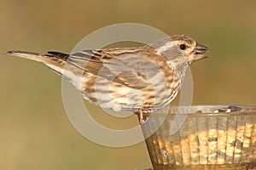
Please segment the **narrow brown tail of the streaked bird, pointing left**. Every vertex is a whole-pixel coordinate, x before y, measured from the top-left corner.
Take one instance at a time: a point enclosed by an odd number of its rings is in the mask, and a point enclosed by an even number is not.
[[[52,70],[63,74],[65,65],[67,63],[67,59],[69,54],[62,54],[59,52],[48,52],[47,54],[37,54],[32,52],[13,50],[7,52],[9,55],[18,56],[24,59],[31,59],[34,61],[38,61],[40,63],[44,63],[44,65],[49,66]]]

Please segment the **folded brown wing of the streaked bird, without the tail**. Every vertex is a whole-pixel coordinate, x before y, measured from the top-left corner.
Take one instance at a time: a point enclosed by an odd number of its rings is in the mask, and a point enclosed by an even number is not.
[[[160,68],[140,48],[84,50],[71,54],[67,63],[129,88],[146,88]],[[54,52],[49,52],[53,54]]]

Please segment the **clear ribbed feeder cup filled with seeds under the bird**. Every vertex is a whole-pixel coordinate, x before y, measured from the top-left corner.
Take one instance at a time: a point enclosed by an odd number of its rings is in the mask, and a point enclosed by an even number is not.
[[[256,105],[171,107],[142,128],[157,129],[146,139],[154,170],[256,169]]]

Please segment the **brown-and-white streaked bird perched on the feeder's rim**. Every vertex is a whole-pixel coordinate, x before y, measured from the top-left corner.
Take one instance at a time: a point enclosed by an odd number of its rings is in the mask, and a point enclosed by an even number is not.
[[[47,65],[66,77],[85,100],[113,111],[132,111],[143,124],[151,112],[175,99],[189,65],[207,58],[208,51],[191,37],[172,35],[134,48],[7,54]]]

